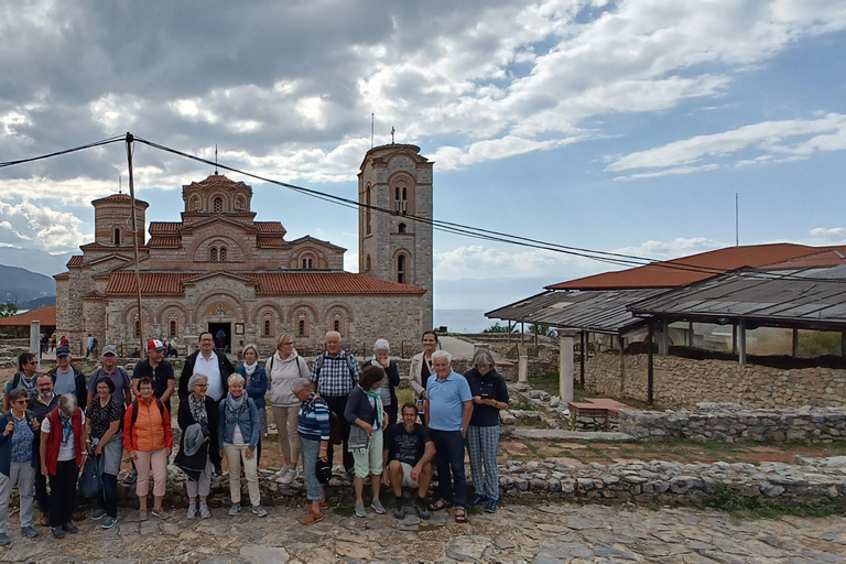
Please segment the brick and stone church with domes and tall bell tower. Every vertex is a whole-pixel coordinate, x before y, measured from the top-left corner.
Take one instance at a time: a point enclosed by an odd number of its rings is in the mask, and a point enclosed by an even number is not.
[[[95,241],[56,274],[56,330],[72,344],[138,346],[133,237],[139,243],[145,338],[196,347],[223,330],[230,350],[294,335],[319,348],[328,330],[372,346],[417,341],[432,328],[432,165],[420,148],[371,149],[358,174],[359,273],[344,271],[343,249],[310,236],[285,239],[280,221],[257,221],[252,188],[213,174],[183,186],[180,221],[153,221],[126,194],[94,200]],[[370,207],[368,207],[370,206]],[[390,209],[387,214],[372,207]]]

